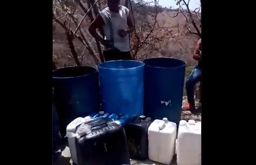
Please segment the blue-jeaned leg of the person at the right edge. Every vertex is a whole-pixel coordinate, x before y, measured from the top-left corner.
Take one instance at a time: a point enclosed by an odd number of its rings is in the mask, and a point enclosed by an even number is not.
[[[201,80],[201,68],[196,65],[190,74],[188,80],[186,81],[186,95],[189,105],[189,109],[195,109],[195,100],[194,100],[194,86]]]

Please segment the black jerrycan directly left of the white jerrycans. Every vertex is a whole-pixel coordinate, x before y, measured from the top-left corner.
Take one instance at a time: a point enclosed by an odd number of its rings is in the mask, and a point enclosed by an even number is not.
[[[136,115],[130,118],[129,123],[124,127],[131,159],[145,160],[149,158],[148,128],[151,123],[151,118]]]

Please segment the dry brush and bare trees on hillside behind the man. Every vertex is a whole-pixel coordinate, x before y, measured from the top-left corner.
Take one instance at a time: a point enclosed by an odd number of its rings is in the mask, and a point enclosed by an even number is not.
[[[123,5],[127,2],[129,0],[121,0]],[[197,27],[201,20],[198,19],[198,12],[190,12],[186,5],[183,9],[184,2],[179,1],[180,9],[175,10],[162,8],[156,0],[150,4],[143,0],[128,4],[135,25],[135,31],[130,34],[131,52],[135,59],[172,56],[190,61],[187,56],[197,39],[193,22]],[[97,65],[103,61],[103,46],[88,33],[88,26],[105,6],[104,0],[53,2],[53,61],[58,66]],[[174,14],[170,15],[170,12]],[[185,21],[179,22],[178,17]],[[196,21],[193,21],[195,18]],[[161,19],[178,21],[169,27],[168,22],[160,22]]]

